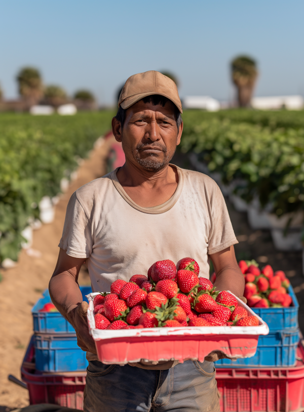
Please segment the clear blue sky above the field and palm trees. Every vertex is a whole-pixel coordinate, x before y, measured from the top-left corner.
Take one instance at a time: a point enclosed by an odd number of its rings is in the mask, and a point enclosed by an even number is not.
[[[17,96],[24,65],[69,94],[115,102],[132,74],[169,70],[180,96],[231,99],[229,63],[258,62],[255,95],[304,95],[303,0],[0,0],[0,84]]]

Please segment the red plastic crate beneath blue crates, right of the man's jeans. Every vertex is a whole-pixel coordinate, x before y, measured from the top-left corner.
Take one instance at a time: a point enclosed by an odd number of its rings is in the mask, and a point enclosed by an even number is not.
[[[216,370],[221,412],[299,412],[304,410],[304,349],[287,368]]]

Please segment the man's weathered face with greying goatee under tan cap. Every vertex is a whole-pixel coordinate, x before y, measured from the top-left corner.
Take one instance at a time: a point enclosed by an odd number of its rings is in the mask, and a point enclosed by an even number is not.
[[[180,143],[174,104],[154,106],[142,100],[129,107],[121,141],[126,158],[143,169],[157,172],[167,166]],[[118,139],[120,140],[120,139]]]

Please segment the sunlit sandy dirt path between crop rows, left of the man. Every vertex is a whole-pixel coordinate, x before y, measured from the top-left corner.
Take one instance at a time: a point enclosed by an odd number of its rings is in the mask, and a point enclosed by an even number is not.
[[[0,412],[27,406],[27,390],[8,381],[9,374],[20,379],[20,366],[32,335],[31,308],[49,283],[58,256],[67,202],[80,186],[107,173],[106,156],[111,140],[98,140],[89,159],[85,160],[66,193],[56,205],[55,220],[33,233],[32,249],[41,252],[41,258],[31,258],[22,251],[16,267],[4,270],[0,283]],[[89,278],[82,270],[80,283]]]

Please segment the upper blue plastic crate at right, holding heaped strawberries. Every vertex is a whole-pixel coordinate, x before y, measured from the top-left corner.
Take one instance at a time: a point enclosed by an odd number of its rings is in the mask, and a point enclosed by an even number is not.
[[[288,293],[292,298],[292,306],[289,308],[251,308],[268,324],[270,331],[286,331],[298,327],[299,304],[291,285],[288,287]]]

